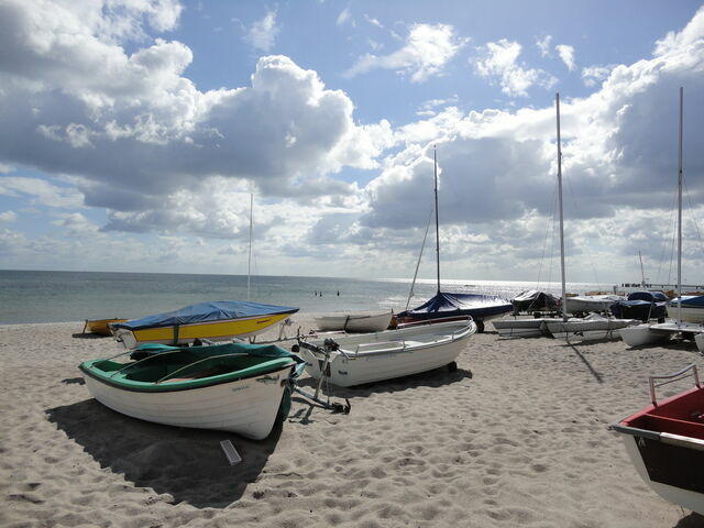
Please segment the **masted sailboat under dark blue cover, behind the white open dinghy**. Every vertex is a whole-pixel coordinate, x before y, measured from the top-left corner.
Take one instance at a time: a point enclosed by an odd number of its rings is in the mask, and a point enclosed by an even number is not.
[[[438,292],[422,305],[396,316],[400,324],[439,322],[471,317],[477,332],[484,331],[484,321],[508,314],[513,310],[510,301],[498,295],[448,293],[440,289],[440,220],[438,218],[438,156],[433,148],[435,195],[436,195],[436,253],[438,272]]]

